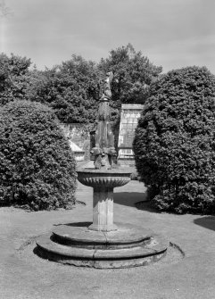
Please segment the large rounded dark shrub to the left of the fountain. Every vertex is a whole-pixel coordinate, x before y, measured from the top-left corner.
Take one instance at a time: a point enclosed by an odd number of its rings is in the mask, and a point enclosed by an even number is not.
[[[54,113],[24,100],[0,109],[0,204],[32,210],[75,202],[75,160]]]

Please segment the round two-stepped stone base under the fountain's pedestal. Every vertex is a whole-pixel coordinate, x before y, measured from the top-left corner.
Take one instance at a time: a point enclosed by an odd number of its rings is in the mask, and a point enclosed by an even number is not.
[[[94,231],[70,223],[37,238],[37,253],[54,262],[99,269],[144,266],[165,256],[170,242],[151,229],[117,224],[118,230]]]

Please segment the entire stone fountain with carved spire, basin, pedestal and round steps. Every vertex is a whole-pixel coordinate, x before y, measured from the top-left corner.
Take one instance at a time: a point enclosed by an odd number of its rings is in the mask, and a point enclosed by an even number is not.
[[[94,188],[93,223],[60,225],[37,238],[37,253],[49,260],[94,268],[128,268],[160,260],[169,241],[149,228],[115,223],[113,188],[128,184],[131,170],[116,162],[109,102],[112,71],[107,72],[100,97],[91,154],[94,167],[81,168],[79,182]]]

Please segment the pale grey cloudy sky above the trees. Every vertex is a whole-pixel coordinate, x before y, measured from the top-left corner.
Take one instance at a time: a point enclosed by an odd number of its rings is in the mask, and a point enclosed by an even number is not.
[[[44,70],[80,54],[99,62],[132,44],[163,72],[191,65],[215,74],[214,0],[0,0],[0,52]]]

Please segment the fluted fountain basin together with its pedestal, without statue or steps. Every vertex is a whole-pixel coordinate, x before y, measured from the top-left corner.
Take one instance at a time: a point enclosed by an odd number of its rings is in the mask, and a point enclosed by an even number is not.
[[[98,231],[116,230],[113,223],[113,188],[126,185],[131,170],[78,170],[79,182],[94,188],[93,224],[89,229]]]

